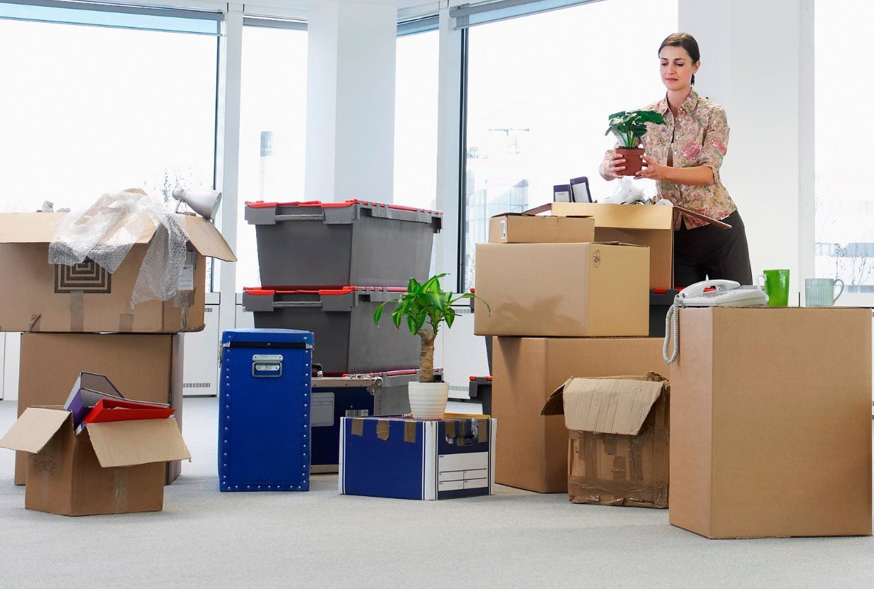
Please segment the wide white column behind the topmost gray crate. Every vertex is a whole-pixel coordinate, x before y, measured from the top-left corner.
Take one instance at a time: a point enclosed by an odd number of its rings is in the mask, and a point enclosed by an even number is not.
[[[393,3],[329,0],[313,6],[308,25],[308,199],[392,201],[397,26]]]

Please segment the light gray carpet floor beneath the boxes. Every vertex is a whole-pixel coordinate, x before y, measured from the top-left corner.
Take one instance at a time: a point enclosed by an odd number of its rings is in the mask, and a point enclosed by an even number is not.
[[[149,514],[24,509],[0,450],[2,587],[863,587],[874,539],[713,541],[668,512],[574,505],[565,495],[413,502],[309,493],[219,493],[217,401],[185,401],[193,461]],[[0,433],[15,404],[0,401]]]

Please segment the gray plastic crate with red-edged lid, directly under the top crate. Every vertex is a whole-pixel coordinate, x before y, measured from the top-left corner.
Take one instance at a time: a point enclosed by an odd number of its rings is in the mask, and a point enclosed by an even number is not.
[[[316,336],[313,364],[325,376],[354,372],[406,370],[419,365],[420,339],[406,323],[395,329],[385,306],[381,327],[373,313],[404,288],[346,287],[336,290],[244,288],[243,307],[254,314],[256,328],[302,329]]]

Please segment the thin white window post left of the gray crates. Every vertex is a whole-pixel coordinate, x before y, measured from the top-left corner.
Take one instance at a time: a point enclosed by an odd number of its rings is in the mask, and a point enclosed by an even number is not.
[[[228,4],[221,39],[218,80],[218,152],[216,185],[222,191],[221,232],[231,249],[237,249],[239,198],[239,97],[243,64],[243,5]],[[218,334],[233,329],[236,315],[237,274],[232,262],[216,260],[221,301]]]

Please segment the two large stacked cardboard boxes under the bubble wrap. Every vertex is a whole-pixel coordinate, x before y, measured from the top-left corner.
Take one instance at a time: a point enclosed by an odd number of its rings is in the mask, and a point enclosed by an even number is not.
[[[109,274],[91,260],[75,266],[48,264],[48,246],[62,218],[64,213],[0,215],[0,330],[23,332],[19,416],[34,405],[63,405],[80,371],[89,371],[106,375],[126,398],[175,407],[181,427],[181,334],[204,328],[207,257],[233,261],[230,247],[204,218],[179,216],[189,235],[189,253],[178,294],[131,308],[154,227],[143,232],[121,267]],[[58,431],[72,435],[63,427]],[[26,482],[29,461],[28,453],[17,453],[16,484]],[[172,482],[180,471],[179,461],[168,462],[164,481]],[[135,510],[128,507],[133,505],[115,505]]]

